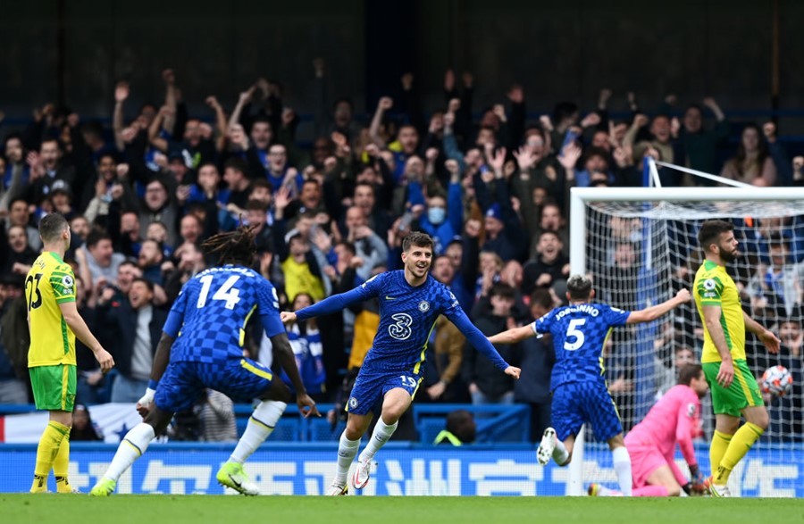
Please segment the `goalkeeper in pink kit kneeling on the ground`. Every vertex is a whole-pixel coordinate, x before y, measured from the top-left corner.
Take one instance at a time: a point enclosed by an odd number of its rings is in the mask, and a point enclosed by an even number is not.
[[[703,475],[695,458],[692,439],[700,434],[700,399],[708,392],[700,364],[679,370],[678,384],[671,387],[648,415],[625,436],[631,455],[633,496],[679,496],[682,491],[703,492]],[[675,445],[690,466],[691,481],[675,464]],[[614,489],[592,484],[590,495],[621,495]]]

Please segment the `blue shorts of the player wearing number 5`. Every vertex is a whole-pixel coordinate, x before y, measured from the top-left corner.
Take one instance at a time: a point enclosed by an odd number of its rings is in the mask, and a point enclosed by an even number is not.
[[[620,414],[602,382],[566,382],[553,392],[553,428],[558,440],[578,435],[589,423],[595,438],[607,441],[623,432]]]

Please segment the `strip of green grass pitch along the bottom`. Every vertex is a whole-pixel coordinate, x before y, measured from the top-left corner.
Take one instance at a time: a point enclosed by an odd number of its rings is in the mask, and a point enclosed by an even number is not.
[[[804,500],[583,497],[368,497],[0,494],[4,524],[691,524],[804,522]]]

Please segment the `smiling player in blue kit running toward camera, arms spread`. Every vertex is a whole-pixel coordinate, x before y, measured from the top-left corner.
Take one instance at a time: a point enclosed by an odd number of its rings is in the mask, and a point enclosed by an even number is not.
[[[424,352],[427,340],[439,315],[446,316],[474,347],[484,353],[498,370],[519,378],[519,368],[509,366],[475,328],[458,304],[455,295],[429,274],[432,261],[432,238],[412,232],[402,242],[404,270],[381,273],[351,291],[332,295],[297,312],[282,312],[288,323],[338,312],[371,297],[380,299],[380,326],[371,350],[357,374],[355,387],[347,403],[347,427],[340,436],[338,469],[327,495],[348,492],[347,475],[355,459],[360,439],[380,412],[371,439],[360,453],[352,486],[365,487],[374,454],[397,428],[399,417],[410,404],[422,383]]]

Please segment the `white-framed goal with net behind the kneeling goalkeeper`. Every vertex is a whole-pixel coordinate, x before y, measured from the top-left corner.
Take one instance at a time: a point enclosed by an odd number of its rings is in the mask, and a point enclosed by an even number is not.
[[[730,220],[741,256],[727,267],[751,318],[782,338],[778,355],[747,333],[746,354],[761,385],[763,371],[783,365],[793,386],[783,397],[766,395],[770,426],[730,480],[735,495],[795,496],[804,490],[804,188],[574,188],[573,273],[593,279],[596,299],[639,310],[692,291],[703,257],[698,230],[704,220]],[[677,367],[700,362],[703,330],[695,304],[684,304],[649,324],[615,329],[604,350],[609,389],[627,431],[673,387]],[[699,464],[709,472],[714,430],[711,397],[702,399]],[[570,472],[571,495],[599,482],[616,487],[608,446],[586,428]],[[677,455],[683,464],[681,454]],[[688,471],[686,466],[683,471]]]

